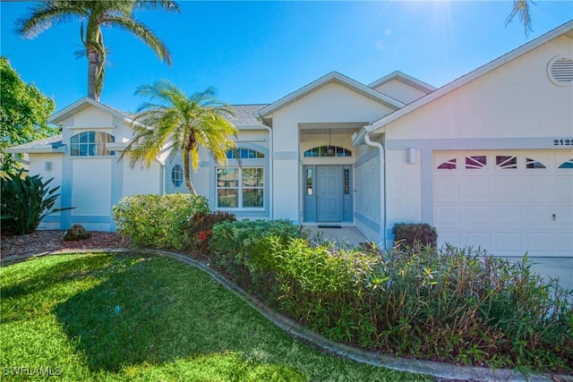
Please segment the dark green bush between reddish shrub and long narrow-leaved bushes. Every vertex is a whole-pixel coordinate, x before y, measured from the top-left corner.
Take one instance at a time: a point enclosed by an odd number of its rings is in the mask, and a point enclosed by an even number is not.
[[[270,269],[269,238],[288,242],[301,237],[299,225],[286,219],[242,220],[213,226],[210,240],[211,264],[235,283],[251,292],[261,280],[267,283]]]

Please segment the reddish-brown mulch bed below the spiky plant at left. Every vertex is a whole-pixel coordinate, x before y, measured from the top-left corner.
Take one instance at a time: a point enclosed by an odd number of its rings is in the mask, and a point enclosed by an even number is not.
[[[30,234],[9,236],[3,234],[0,241],[0,258],[34,255],[56,250],[121,249],[128,248],[129,241],[113,232],[90,231],[88,239],[76,242],[64,240],[65,231],[38,230]]]

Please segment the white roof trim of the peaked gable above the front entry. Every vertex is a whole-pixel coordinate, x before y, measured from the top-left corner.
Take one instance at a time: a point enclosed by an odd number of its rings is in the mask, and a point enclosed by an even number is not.
[[[328,85],[329,83],[338,83],[348,89],[354,90],[357,93],[362,94],[364,97],[371,98],[374,101],[380,102],[381,104],[388,106],[391,109],[397,110],[400,107],[404,107],[405,105],[398,101],[397,99],[391,98],[382,94],[379,91],[376,91],[372,88],[363,85],[362,83],[352,80],[349,77],[346,77],[339,72],[329,72],[328,74],[322,76],[320,79],[316,81],[312,81],[308,85],[304,86],[301,89],[296,90],[295,92],[289,94],[284,98],[280,98],[277,102],[270,104],[269,106],[263,107],[259,112],[259,115],[262,117],[269,116],[270,114],[276,112],[278,109],[290,105],[293,102],[297,101],[300,98],[304,98],[304,96],[312,93],[317,89],[321,89],[323,86]]]

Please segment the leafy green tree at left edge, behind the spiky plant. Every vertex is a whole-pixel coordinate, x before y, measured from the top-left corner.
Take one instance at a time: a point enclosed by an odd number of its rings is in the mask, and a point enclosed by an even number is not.
[[[56,105],[34,85],[21,81],[6,57],[0,57],[0,78],[0,160],[2,171],[15,173],[19,164],[4,149],[57,134],[47,125]]]

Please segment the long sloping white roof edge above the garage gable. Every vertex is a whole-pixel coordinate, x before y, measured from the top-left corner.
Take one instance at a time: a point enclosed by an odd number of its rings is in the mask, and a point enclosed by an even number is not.
[[[368,132],[374,132],[380,129],[381,127],[385,126],[386,124],[396,121],[398,118],[407,115],[413,112],[414,110],[432,102],[433,100],[440,98],[448,94],[449,92],[466,85],[466,83],[470,81],[474,81],[475,79],[496,70],[501,65],[506,64],[509,61],[515,60],[517,57],[521,55],[526,55],[526,53],[531,52],[535,48],[541,47],[548,41],[551,41],[552,39],[558,38],[562,35],[566,35],[569,38],[573,38],[573,20],[568,21],[565,24],[561,25],[560,27],[557,27],[556,29],[545,33],[543,36],[539,38],[535,38],[534,40],[528,42],[527,44],[521,47],[517,47],[508,54],[502,55],[499,58],[493,60],[491,63],[485,64],[482,67],[477,68],[475,71],[467,73],[466,75],[458,78],[458,80],[449,82],[449,84],[442,86],[440,89],[433,91],[432,93],[428,94],[427,96],[424,96],[423,98],[415,100],[411,104],[399,109],[398,111],[390,113],[389,115],[382,117],[381,119],[371,123],[370,125],[364,126],[363,130],[358,132],[353,138],[353,144],[358,145],[362,143],[364,134]]]

